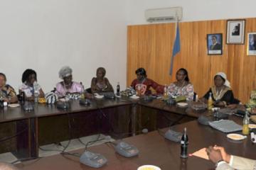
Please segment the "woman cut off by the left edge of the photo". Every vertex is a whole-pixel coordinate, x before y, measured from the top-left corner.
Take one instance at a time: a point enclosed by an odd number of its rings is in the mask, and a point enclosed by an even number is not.
[[[14,88],[6,84],[6,75],[4,73],[0,73],[0,93],[0,97],[8,103],[16,103],[18,101]]]

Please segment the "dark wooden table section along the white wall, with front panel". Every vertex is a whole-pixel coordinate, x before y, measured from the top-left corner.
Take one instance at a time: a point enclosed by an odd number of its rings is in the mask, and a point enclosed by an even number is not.
[[[130,130],[129,122],[120,118],[126,118],[130,114],[134,101],[119,98],[95,99],[90,106],[82,106],[79,101],[68,102],[70,103],[68,109],[59,109],[56,104],[41,103],[34,104],[33,111],[24,111],[22,106],[1,109],[2,152],[7,148],[16,150],[14,152],[16,157],[38,157],[39,145],[70,139],[71,121],[79,124],[76,129],[74,127],[72,129],[78,132],[73,134],[73,138],[109,131],[113,128],[111,126],[117,130],[124,128],[124,132]]]

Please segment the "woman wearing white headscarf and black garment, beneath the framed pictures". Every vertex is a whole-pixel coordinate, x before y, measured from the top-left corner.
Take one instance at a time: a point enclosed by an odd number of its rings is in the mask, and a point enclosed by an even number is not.
[[[238,99],[234,98],[233,91],[230,89],[230,82],[223,72],[218,72],[214,77],[214,86],[210,87],[209,91],[201,98],[201,101],[206,102],[212,94],[215,106],[228,106],[233,107],[240,103]]]

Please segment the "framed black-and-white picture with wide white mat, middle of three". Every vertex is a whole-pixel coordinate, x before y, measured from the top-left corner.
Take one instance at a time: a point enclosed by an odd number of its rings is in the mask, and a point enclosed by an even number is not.
[[[227,44],[245,43],[245,20],[227,21]]]

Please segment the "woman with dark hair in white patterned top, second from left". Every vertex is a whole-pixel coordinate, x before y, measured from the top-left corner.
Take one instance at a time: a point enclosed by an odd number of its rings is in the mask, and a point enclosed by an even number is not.
[[[34,100],[34,94],[38,93],[38,97],[43,98],[44,93],[41,86],[37,83],[36,72],[33,69],[26,69],[22,74],[22,85],[18,91],[23,91],[28,101]]]

